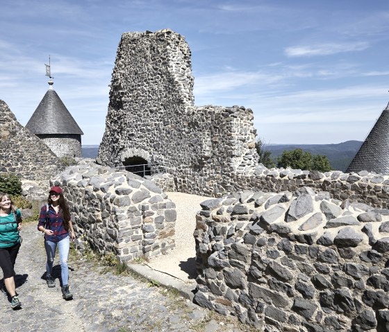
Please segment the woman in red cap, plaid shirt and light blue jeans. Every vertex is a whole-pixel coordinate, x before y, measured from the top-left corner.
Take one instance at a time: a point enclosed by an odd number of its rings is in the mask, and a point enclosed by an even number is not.
[[[55,287],[56,282],[52,277],[53,262],[56,248],[60,255],[60,268],[62,279],[62,294],[66,300],[72,299],[69,291],[69,270],[67,259],[69,256],[70,238],[74,240],[74,230],[70,219],[69,208],[59,186],[53,186],[47,198],[48,204],[40,209],[38,230],[44,233],[44,247],[47,254],[46,282],[49,288]]]

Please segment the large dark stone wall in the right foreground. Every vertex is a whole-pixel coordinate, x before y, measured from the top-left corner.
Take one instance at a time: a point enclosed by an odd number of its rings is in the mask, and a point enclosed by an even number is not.
[[[197,213],[197,304],[260,331],[389,331],[389,210],[244,191]]]

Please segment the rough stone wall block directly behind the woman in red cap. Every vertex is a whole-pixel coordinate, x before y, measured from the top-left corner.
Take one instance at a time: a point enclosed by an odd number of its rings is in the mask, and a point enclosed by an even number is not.
[[[51,179],[69,202],[78,237],[121,261],[174,247],[176,209],[153,182],[83,160]]]

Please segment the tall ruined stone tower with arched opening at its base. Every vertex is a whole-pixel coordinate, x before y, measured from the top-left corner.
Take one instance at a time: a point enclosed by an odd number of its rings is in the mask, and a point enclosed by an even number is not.
[[[253,112],[194,105],[190,49],[172,30],[124,33],[110,85],[101,164],[153,174],[176,189],[220,195],[256,166]]]

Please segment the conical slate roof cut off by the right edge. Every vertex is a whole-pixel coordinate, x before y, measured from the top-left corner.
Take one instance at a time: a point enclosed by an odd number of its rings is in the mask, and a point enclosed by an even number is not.
[[[389,103],[347,168],[347,173],[369,171],[389,175]]]

